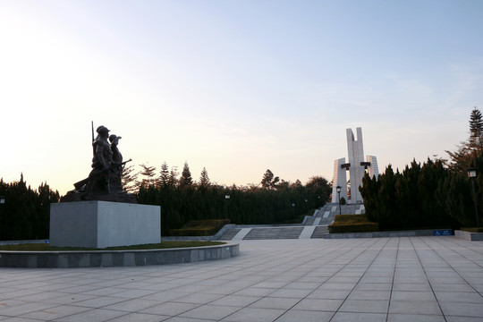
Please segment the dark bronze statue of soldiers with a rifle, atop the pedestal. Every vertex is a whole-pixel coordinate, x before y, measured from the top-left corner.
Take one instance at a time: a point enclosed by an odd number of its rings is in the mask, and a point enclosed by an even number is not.
[[[119,148],[120,136],[109,135],[109,129],[101,125],[97,127],[97,137],[92,135],[92,170],[89,176],[74,183],[75,190],[67,192],[61,202],[81,200],[105,200],[115,202],[136,203],[134,195],[123,190],[122,174],[124,165],[131,159],[123,161]]]

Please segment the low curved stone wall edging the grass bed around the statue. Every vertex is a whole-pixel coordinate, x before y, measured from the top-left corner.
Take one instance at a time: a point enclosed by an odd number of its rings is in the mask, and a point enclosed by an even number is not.
[[[0,251],[0,267],[138,267],[233,258],[239,244],[166,250]]]

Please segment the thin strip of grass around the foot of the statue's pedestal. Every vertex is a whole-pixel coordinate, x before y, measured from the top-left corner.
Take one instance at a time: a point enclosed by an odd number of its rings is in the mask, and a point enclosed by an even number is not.
[[[63,250],[162,250],[184,247],[203,247],[223,245],[226,242],[161,242],[157,244],[144,244],[132,246],[107,247],[105,249],[89,249],[79,247],[51,247],[48,243],[32,243],[18,245],[0,245],[0,250],[19,250],[19,251],[63,251]]]

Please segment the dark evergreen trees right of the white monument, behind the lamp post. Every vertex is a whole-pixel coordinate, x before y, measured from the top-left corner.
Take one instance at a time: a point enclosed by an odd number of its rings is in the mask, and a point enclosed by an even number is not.
[[[449,160],[428,159],[420,165],[415,160],[402,173],[391,165],[378,178],[362,181],[360,193],[369,220],[383,230],[479,226],[483,217],[483,117],[478,108],[470,114],[470,138],[460,143],[457,150],[446,151]],[[467,170],[476,168],[476,179]],[[476,191],[475,208],[472,191]]]

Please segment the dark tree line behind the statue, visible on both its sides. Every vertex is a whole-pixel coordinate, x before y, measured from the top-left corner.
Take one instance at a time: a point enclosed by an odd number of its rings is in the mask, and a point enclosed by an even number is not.
[[[236,224],[276,224],[301,222],[309,209],[323,206],[331,185],[313,176],[305,185],[299,180],[286,182],[267,170],[258,185],[226,186],[212,183],[203,168],[199,181],[191,177],[188,163],[180,175],[176,167],[163,163],[159,174],[155,166],[141,165],[139,174],[127,171],[124,184],[135,193],[140,204],[161,206],[162,233],[182,227],[193,219],[230,219]],[[37,190],[21,179],[0,179],[0,240],[48,239],[50,204],[59,202],[58,191],[42,183]]]

